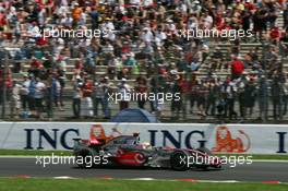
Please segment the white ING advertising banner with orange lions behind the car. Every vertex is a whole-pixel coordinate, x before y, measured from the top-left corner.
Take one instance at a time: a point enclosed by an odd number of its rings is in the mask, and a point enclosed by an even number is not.
[[[288,151],[288,126],[93,122],[0,122],[0,148],[64,151],[73,148],[75,138],[94,140],[101,135],[110,140],[133,133],[153,146],[207,147],[213,153],[233,154]]]

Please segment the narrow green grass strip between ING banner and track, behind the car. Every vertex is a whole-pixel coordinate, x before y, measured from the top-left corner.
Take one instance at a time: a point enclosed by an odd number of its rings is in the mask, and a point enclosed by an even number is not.
[[[43,150],[0,150],[0,156],[16,155],[16,156],[44,156],[44,155],[72,155],[71,151],[43,151]],[[279,159],[288,160],[286,155],[248,155],[248,154],[217,154],[217,156],[252,156],[252,159]]]

